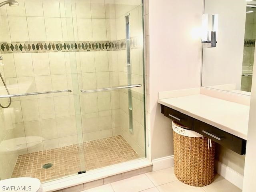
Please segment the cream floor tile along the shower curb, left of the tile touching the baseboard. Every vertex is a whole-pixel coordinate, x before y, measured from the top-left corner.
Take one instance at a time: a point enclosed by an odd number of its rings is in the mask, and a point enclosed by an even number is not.
[[[128,179],[111,183],[115,192],[139,192],[154,187],[154,184],[145,175],[138,175]]]

